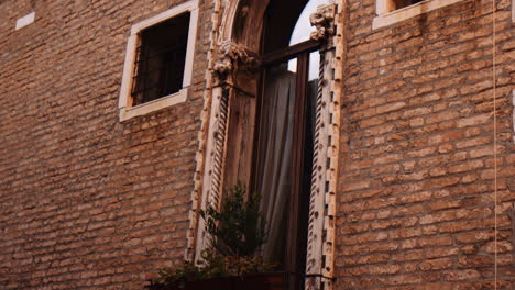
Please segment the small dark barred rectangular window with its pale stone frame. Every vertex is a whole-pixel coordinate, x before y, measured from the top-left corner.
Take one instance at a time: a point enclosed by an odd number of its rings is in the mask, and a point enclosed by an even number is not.
[[[120,89],[120,121],[186,101],[191,86],[198,0],[132,25]]]

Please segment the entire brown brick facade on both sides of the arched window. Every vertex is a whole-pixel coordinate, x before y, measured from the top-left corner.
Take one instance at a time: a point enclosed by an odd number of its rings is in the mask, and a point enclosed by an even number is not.
[[[182,261],[215,1],[187,101],[118,119],[131,25],[180,2],[0,1],[0,289],[142,289]],[[496,159],[492,1],[377,30],[375,0],[343,2],[336,289],[493,289],[495,245],[511,289],[511,1],[496,1]]]

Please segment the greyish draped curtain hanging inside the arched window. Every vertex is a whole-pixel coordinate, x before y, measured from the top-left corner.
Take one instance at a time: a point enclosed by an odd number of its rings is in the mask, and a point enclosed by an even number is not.
[[[269,261],[282,263],[292,187],[295,72],[285,65],[271,70],[274,71],[266,77],[261,110],[256,186],[267,225],[263,256]]]

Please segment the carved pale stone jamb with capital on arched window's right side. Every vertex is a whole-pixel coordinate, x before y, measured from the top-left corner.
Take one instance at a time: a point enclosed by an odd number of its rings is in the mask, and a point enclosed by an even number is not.
[[[333,288],[337,168],[340,134],[342,0],[320,7],[310,18],[311,38],[327,40],[320,52],[315,152],[309,204],[306,290]],[[339,13],[336,13],[339,10]],[[337,38],[333,45],[333,40]]]

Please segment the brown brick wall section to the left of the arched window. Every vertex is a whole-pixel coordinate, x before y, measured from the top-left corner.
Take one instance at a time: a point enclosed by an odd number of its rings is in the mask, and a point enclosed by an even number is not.
[[[179,2],[0,1],[0,289],[142,289],[180,263],[210,7],[187,102],[118,121],[131,25]]]

